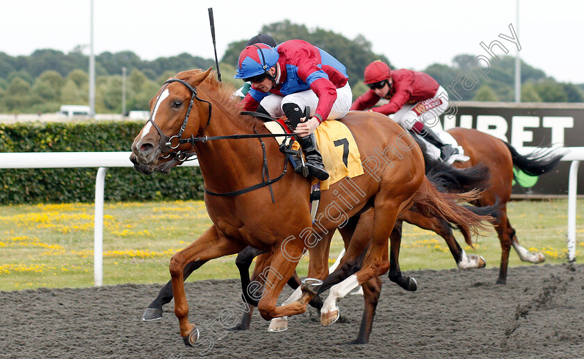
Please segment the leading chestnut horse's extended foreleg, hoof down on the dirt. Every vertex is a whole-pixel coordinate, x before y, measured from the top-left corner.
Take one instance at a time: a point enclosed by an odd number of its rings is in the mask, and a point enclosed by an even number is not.
[[[172,294],[175,297],[175,315],[179,319],[180,335],[184,343],[193,345],[199,338],[199,330],[188,322],[188,304],[184,291],[184,267],[194,260],[211,260],[241,251],[245,244],[232,240],[218,233],[215,226],[207,229],[188,247],[176,253],[170,259],[170,277]]]

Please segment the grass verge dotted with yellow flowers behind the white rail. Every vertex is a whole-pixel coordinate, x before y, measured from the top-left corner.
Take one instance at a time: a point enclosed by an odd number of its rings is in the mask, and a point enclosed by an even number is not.
[[[36,287],[86,287],[93,285],[93,205],[87,203],[0,206],[0,290]],[[578,201],[578,213],[584,201]],[[510,221],[519,242],[540,251],[546,262],[566,261],[567,201],[513,201]],[[578,216],[580,218],[580,216]],[[202,201],[106,203],[104,208],[104,285],[165,283],[168,262],[211,224]],[[581,236],[584,226],[578,225]],[[451,269],[455,262],[441,237],[405,225],[400,265],[403,270]],[[487,267],[498,267],[501,247],[494,231],[479,237],[476,252]],[[330,262],[342,248],[334,236]],[[577,244],[578,257],[583,245]],[[195,271],[188,281],[237,278],[235,256],[218,258]],[[302,258],[298,273],[305,276],[308,260]],[[510,267],[530,265],[512,251]]]

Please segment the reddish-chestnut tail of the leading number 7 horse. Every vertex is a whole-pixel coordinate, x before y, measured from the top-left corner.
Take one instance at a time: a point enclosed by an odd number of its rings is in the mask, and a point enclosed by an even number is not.
[[[466,234],[464,240],[472,247],[471,237],[478,235],[481,230],[487,230],[486,222],[494,221],[491,212],[493,206],[470,210],[468,206],[460,206],[457,203],[476,201],[481,194],[479,190],[463,193],[440,192],[428,178],[424,177],[418,192],[414,195],[413,202],[416,210],[422,215],[444,218],[460,228],[462,233]]]

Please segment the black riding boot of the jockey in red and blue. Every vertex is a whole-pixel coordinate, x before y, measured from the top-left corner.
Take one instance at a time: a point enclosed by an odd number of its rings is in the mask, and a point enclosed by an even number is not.
[[[282,110],[286,114],[286,117],[290,120],[292,128],[295,129],[298,124],[300,124],[300,119],[305,117],[304,112],[300,110],[300,106],[295,103],[284,103]],[[316,149],[316,137],[314,135],[309,135],[306,137],[296,136],[302,151],[305,153],[306,167],[308,168],[308,173],[311,176],[318,178],[321,181],[329,178],[329,174],[325,170],[325,165],[323,164],[323,156]],[[302,167],[297,167],[296,172],[302,172]]]

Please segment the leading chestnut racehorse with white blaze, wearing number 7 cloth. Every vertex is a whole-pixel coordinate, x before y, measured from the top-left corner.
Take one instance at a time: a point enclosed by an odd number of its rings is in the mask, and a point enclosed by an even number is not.
[[[233,88],[220,85],[210,72],[180,72],[164,83],[150,101],[151,117],[134,140],[130,158],[145,174],[168,171],[165,162],[191,150],[199,159],[213,225],[170,260],[175,315],[185,344],[192,345],[199,334],[188,321],[183,271],[189,262],[238,253],[248,245],[270,251],[270,285],[261,293],[258,310],[272,319],[305,312],[328,274],[329,247],[321,238],[366,207],[375,208],[371,247],[344,288],[387,272],[389,235],[409,206],[435,212],[471,232],[487,219],[455,203],[476,200],[478,192],[443,194],[432,186],[424,175],[421,150],[400,126],[380,114],[350,112],[341,122],[355,137],[366,173],[323,191],[313,226],[310,180],[293,173],[277,142],[263,142],[262,136],[270,136],[263,122],[241,115]],[[277,307],[277,297],[305,251],[309,278],[302,296]]]

